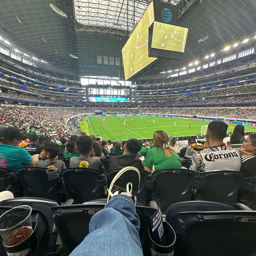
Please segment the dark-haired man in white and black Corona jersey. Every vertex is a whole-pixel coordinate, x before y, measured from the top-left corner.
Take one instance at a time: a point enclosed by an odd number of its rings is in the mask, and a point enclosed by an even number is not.
[[[210,122],[206,132],[206,141],[210,147],[193,154],[190,170],[198,174],[206,171],[239,171],[242,158],[237,149],[227,147],[223,139],[227,135],[228,125],[221,121]]]

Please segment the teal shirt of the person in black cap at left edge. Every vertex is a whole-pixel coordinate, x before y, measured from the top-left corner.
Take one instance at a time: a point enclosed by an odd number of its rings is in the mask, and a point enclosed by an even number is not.
[[[23,147],[0,144],[0,167],[17,172],[17,168],[27,166],[32,161],[30,153]]]

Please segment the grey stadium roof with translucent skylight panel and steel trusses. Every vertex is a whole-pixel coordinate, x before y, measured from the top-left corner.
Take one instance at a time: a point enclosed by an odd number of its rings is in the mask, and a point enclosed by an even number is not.
[[[183,60],[168,61],[163,67],[187,63],[203,50],[255,32],[255,0],[171,2],[179,5],[178,25],[188,27],[189,33]],[[50,3],[67,18],[56,14]],[[97,55],[121,58],[130,31],[149,3],[149,0],[2,0],[0,34],[49,64],[72,68],[80,75],[118,76],[119,67],[97,64]],[[198,42],[207,35],[207,40]],[[159,69],[151,71],[158,73]]]

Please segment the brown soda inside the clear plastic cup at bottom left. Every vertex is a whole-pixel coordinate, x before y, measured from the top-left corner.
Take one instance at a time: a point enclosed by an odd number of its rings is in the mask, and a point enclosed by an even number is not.
[[[18,245],[22,241],[26,240],[32,233],[32,228],[30,226],[20,227],[13,232],[11,232],[5,239],[5,244],[8,246]]]

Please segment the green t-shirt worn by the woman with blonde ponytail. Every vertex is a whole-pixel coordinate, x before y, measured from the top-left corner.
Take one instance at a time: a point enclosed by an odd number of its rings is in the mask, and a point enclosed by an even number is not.
[[[170,168],[181,168],[181,159],[176,152],[174,153],[175,155],[172,155],[171,158],[168,158],[161,149],[153,147],[152,149],[147,151],[147,155],[145,157],[143,165],[148,168],[152,168],[154,165],[155,171]]]

